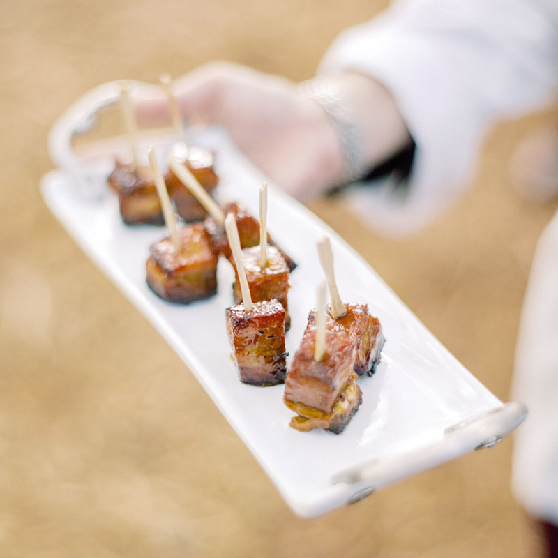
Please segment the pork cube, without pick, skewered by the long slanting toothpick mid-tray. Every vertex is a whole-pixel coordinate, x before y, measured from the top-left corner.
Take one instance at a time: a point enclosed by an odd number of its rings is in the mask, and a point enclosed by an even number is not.
[[[232,213],[236,220],[236,228],[239,231],[239,239],[241,248],[252,248],[252,246],[257,246],[259,244],[259,221],[253,217],[246,209],[236,202],[232,202],[225,206],[225,215]],[[211,234],[211,239],[213,240],[213,245],[216,252],[223,254],[227,259],[232,260],[231,249],[229,248],[229,243],[227,241],[227,234],[225,234],[225,227],[219,225],[213,217],[208,217],[205,220],[206,229]],[[269,234],[267,235],[267,242],[269,246],[276,246]],[[289,257],[285,252],[280,250],[282,257],[285,259],[289,271],[293,271],[296,268],[296,263]]]

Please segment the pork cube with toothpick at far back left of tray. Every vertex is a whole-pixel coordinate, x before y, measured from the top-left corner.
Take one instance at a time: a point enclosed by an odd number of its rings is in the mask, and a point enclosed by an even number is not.
[[[120,84],[120,108],[126,125],[126,136],[132,152],[132,161],[124,163],[116,159],[114,170],[107,182],[116,192],[122,220],[126,225],[148,223],[163,225],[163,211],[153,172],[149,167],[140,165],[137,157],[137,124],[130,102],[130,84]]]

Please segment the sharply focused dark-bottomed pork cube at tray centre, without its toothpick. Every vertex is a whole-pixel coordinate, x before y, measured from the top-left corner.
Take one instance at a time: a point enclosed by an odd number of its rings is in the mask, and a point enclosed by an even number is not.
[[[252,312],[243,303],[227,308],[227,334],[241,382],[275,386],[285,382],[285,310],[276,301],[259,301]]]

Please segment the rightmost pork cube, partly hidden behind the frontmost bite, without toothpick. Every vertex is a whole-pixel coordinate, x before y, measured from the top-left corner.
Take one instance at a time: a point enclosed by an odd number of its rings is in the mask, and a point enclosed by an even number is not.
[[[340,318],[331,317],[331,306],[326,312],[326,329],[343,332],[349,335],[356,347],[354,371],[358,375],[365,372],[372,375],[380,360],[380,352],[384,345],[384,333],[379,319],[370,315],[367,304],[345,304],[347,313]],[[316,326],[316,316],[312,311],[308,315],[306,329]]]

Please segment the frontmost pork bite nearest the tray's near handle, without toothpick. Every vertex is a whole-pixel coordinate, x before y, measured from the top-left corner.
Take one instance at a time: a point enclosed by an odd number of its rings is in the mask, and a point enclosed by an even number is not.
[[[285,379],[285,405],[297,416],[292,428],[308,432],[323,428],[340,434],[362,403],[354,379],[356,347],[348,335],[326,331],[326,353],[314,359],[315,329],[307,329]]]

